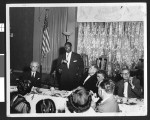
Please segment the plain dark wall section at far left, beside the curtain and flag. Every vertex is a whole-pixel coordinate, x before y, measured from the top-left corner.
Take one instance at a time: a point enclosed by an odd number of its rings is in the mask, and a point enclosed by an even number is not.
[[[22,70],[33,59],[34,8],[10,8],[10,66]]]

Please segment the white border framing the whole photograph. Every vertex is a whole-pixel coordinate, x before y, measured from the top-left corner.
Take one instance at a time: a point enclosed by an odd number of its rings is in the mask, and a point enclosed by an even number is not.
[[[126,5],[142,5],[144,6],[145,13],[147,12],[147,4],[146,3],[57,3],[57,4],[6,4],[6,75],[7,75],[7,86],[6,86],[6,92],[7,92],[7,98],[6,98],[6,104],[7,104],[7,110],[6,114],[8,117],[88,117],[88,116],[124,116],[120,113],[100,113],[100,114],[67,114],[67,113],[51,113],[51,114],[10,114],[10,86],[8,83],[10,83],[10,14],[9,14],[9,8],[10,7],[80,7],[80,6],[126,6]],[[147,14],[147,13],[146,13]],[[146,112],[143,114],[143,116],[147,115],[147,16],[144,18],[144,105]],[[127,116],[141,116],[137,114],[129,114]]]

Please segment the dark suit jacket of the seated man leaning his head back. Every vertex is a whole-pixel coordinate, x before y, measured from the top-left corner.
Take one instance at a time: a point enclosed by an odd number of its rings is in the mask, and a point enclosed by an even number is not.
[[[97,77],[96,74],[92,75],[85,83],[84,80],[87,78],[88,74],[85,73],[82,78],[82,86],[87,90],[92,90],[94,93],[97,93],[98,88],[96,87]],[[84,83],[84,85],[83,85]]]

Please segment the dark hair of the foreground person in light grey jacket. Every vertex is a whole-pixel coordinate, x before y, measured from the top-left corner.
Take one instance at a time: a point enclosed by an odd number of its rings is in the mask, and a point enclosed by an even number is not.
[[[113,93],[115,89],[115,84],[111,79],[104,79],[99,85],[102,89],[104,89],[107,93]]]

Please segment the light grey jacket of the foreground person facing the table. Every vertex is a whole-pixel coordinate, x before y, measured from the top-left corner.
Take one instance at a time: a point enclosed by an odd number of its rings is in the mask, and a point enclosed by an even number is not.
[[[108,98],[103,103],[99,103],[99,105],[96,107],[96,112],[100,113],[106,113],[106,112],[119,112],[119,106],[114,98],[114,96]]]

